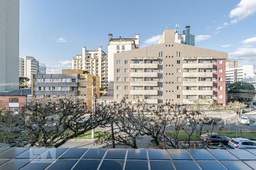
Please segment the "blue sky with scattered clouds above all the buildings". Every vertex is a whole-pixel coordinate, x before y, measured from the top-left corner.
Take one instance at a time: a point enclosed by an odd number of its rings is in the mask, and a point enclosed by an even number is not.
[[[106,51],[113,37],[140,34],[156,44],[164,29],[186,25],[196,46],[227,52],[256,72],[256,0],[20,0],[20,57],[45,63],[47,73],[72,68],[82,46]]]

